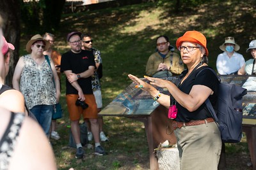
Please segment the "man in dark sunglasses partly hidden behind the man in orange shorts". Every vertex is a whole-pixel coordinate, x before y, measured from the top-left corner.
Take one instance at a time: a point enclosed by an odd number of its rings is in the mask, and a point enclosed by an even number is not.
[[[100,78],[102,76],[102,58],[100,56],[100,51],[97,50],[96,48],[93,48],[92,46],[93,40],[90,34],[82,34],[81,39],[82,39],[82,49],[93,52],[95,64],[97,67],[97,69],[94,71],[94,74],[92,76],[92,90],[97,103],[97,111],[99,113],[102,108],[102,95],[101,95],[101,85],[100,85]],[[103,122],[102,116],[99,116],[98,122],[100,127],[100,141],[108,141],[108,138],[103,132],[104,122]],[[88,141],[92,141],[92,132],[90,130],[91,130],[90,122],[88,122]]]

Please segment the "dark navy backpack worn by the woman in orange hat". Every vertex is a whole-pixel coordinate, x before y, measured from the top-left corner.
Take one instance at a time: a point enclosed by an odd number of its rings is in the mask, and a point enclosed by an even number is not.
[[[205,69],[211,68],[207,67]],[[204,69],[202,69],[202,71],[203,70]],[[211,69],[211,71],[217,76],[213,69]],[[220,81],[218,76],[217,78]],[[218,113],[215,113],[209,99],[205,101],[207,109],[218,124],[221,139],[224,143],[239,143],[241,141],[243,122],[242,99],[245,94],[247,94],[247,90],[243,87],[220,82],[218,93]]]

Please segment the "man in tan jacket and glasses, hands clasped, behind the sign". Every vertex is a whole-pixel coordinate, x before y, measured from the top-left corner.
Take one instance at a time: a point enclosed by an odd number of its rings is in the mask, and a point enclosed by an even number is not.
[[[170,46],[167,36],[156,38],[157,52],[150,55],[147,61],[146,74],[158,78],[179,75],[184,71],[184,65],[179,55]]]

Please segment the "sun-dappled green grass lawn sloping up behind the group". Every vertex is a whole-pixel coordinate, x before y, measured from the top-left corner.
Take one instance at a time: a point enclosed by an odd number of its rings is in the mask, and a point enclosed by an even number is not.
[[[250,53],[245,51],[248,43],[256,38],[253,6],[255,2],[252,0],[221,1],[205,3],[177,14],[170,4],[144,3],[65,13],[60,31],[54,32],[56,49],[61,53],[68,50],[65,41],[68,32],[77,30],[92,34],[93,46],[102,53],[102,97],[104,106],[107,106],[131,83],[127,74],[139,77],[145,74],[147,59],[155,51],[155,39],[160,34],[168,35],[171,45],[175,45],[176,39],[188,30],[203,32],[208,41],[209,65],[214,69],[216,57],[221,53],[219,46],[226,36],[234,36],[241,46],[239,53],[249,59]],[[65,87],[63,75],[62,83]],[[93,150],[86,149],[84,159],[75,159],[76,150],[67,146],[70,122],[64,88],[61,104],[64,109],[63,118],[58,120],[61,139],[52,140],[58,169],[149,169],[145,127],[140,122],[122,117],[104,117],[104,131],[110,140],[102,146],[109,155],[95,157]],[[246,166],[250,162],[246,138],[239,144],[227,144],[226,150],[228,169],[252,169]]]

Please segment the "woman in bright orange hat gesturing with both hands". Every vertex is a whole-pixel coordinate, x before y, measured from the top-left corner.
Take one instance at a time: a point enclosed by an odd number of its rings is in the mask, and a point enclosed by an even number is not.
[[[158,103],[177,107],[173,131],[177,138],[180,169],[218,169],[221,153],[220,131],[205,107],[209,99],[216,109],[219,81],[207,65],[209,54],[204,34],[187,31],[176,41],[182,61],[188,69],[180,75],[180,82],[145,76],[147,83],[132,74],[129,78],[146,90]],[[202,71],[204,69],[204,71]],[[166,88],[171,96],[161,94],[155,87]]]

